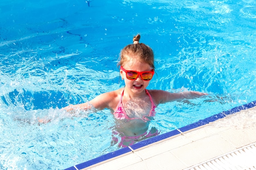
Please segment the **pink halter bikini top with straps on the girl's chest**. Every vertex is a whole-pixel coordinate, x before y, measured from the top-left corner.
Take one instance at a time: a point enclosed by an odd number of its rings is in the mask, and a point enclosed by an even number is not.
[[[151,102],[151,109],[150,109],[150,113],[148,114],[148,116],[152,117],[152,116],[155,116],[156,106],[155,106],[155,103],[153,102],[153,99],[152,99],[151,95],[148,93],[148,90],[145,89],[145,91],[146,91],[146,94],[148,95],[148,97],[150,99],[150,102]],[[122,104],[123,96],[124,96],[124,91],[122,92],[119,103],[117,105],[117,108],[115,109],[115,112],[113,113],[114,116],[117,119],[139,119],[139,118],[130,118],[126,115],[126,112],[124,110],[124,106]],[[146,117],[144,117],[144,119],[148,120]]]

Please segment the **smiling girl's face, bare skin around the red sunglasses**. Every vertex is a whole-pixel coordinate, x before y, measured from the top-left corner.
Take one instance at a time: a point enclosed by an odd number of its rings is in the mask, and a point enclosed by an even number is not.
[[[152,71],[152,68],[146,62],[140,62],[136,59],[130,60],[123,65],[125,70],[129,71]],[[123,70],[120,70],[121,77],[124,78],[125,85],[130,91],[135,94],[139,94],[144,92],[145,88],[148,86],[150,81],[145,81],[141,78],[141,75],[137,77],[137,79],[130,80],[127,79],[126,73]]]

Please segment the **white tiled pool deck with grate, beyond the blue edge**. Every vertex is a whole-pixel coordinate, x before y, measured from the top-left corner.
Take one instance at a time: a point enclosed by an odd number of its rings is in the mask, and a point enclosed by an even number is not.
[[[69,169],[256,170],[255,105],[197,128],[177,129],[174,134],[143,147],[123,148],[124,154],[86,168]]]

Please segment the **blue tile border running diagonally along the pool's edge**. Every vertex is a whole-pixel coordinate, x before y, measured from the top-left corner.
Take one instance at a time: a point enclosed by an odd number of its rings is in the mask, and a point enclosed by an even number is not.
[[[227,115],[232,115],[232,114],[237,113],[237,112],[239,112],[241,110],[249,109],[249,108],[252,108],[254,106],[256,106],[256,101],[250,102],[248,104],[244,104],[242,106],[237,106],[237,107],[232,108],[230,110],[223,111],[222,113],[218,113],[216,115],[207,117],[207,118],[205,118],[203,120],[199,120],[198,122],[195,122],[193,124],[184,126],[184,127],[180,128],[179,130],[181,132],[186,132],[188,130],[191,130],[191,129],[194,129],[194,128],[198,128],[200,126],[209,124],[210,122],[213,122],[213,121],[216,121],[216,120],[221,119],[223,117],[226,117]],[[161,141],[161,140],[166,139],[168,137],[172,137],[172,136],[178,135],[178,134],[180,134],[179,130],[173,130],[171,132],[167,132],[167,133],[164,133],[164,134],[152,137],[150,139],[146,139],[144,141],[140,141],[140,142],[138,142],[138,143],[136,143],[134,145],[131,145],[130,148],[132,148],[132,150],[136,150],[138,148],[142,148],[142,147],[147,146],[149,144],[153,144],[153,143],[155,143],[157,141]],[[79,169],[79,170],[81,170],[83,168],[87,168],[89,166],[92,166],[94,164],[100,163],[102,161],[106,161],[108,159],[111,159],[111,158],[123,155],[125,153],[132,152],[132,150],[130,148],[127,147],[127,148],[119,149],[119,150],[117,150],[115,152],[110,152],[110,153],[108,153],[106,155],[102,155],[102,156],[97,157],[95,159],[92,159],[90,161],[86,161],[84,163],[80,163],[80,164],[76,165],[75,167],[77,169]],[[75,167],[72,166],[72,167],[67,168],[65,170],[77,170]]]

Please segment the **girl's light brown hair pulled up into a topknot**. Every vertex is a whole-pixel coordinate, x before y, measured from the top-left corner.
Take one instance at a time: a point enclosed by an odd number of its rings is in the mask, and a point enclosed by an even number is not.
[[[136,59],[140,62],[146,62],[150,67],[155,69],[153,50],[149,46],[139,43],[139,39],[140,35],[138,34],[133,37],[133,44],[129,44],[121,50],[120,61],[117,66],[124,66],[126,62]]]

